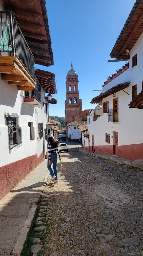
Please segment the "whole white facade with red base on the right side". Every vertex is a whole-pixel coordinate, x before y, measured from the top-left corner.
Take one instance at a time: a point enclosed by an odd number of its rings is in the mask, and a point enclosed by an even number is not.
[[[92,115],[88,116],[90,120],[88,122],[90,151],[111,155],[115,154],[116,156],[131,160],[143,159],[143,109],[139,109],[138,107],[129,108],[129,103],[132,102],[133,98],[133,86],[136,87],[137,96],[143,90],[142,46],[143,33],[129,52],[129,67],[123,67],[123,70],[118,75],[102,86],[103,93],[105,93],[114,86],[129,82],[129,86],[124,91],[121,88],[120,91],[102,99],[103,106],[105,102],[109,103],[108,113],[103,113],[103,107],[102,115],[96,121],[93,121],[94,111]],[[136,54],[137,63],[132,67],[133,58]],[[110,119],[110,111],[114,108],[113,100],[117,98],[119,102],[119,120],[110,122],[108,118]],[[142,99],[140,99],[140,103],[141,101]],[[88,146],[87,140],[85,141],[86,146]]]

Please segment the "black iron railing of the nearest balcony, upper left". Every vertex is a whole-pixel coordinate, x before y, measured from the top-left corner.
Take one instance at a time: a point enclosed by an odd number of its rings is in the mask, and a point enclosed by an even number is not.
[[[11,11],[0,11],[0,52],[18,57],[35,80],[34,56]]]

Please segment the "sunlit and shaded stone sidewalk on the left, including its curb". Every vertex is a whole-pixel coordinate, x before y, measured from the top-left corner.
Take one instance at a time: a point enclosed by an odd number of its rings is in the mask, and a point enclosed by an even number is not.
[[[0,255],[21,255],[48,177],[44,160],[0,200]]]

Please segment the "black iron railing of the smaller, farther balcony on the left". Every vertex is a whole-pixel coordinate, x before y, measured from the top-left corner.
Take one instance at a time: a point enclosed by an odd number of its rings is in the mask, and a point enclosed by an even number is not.
[[[25,98],[34,98],[38,102],[41,103],[41,85],[38,82],[37,78],[35,78],[36,86],[35,89],[31,92],[25,92]]]

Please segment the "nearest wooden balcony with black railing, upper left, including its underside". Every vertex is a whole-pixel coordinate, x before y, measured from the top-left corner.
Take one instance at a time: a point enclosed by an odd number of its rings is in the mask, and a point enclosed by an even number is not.
[[[34,57],[11,11],[0,12],[0,73],[18,90],[35,88]]]

